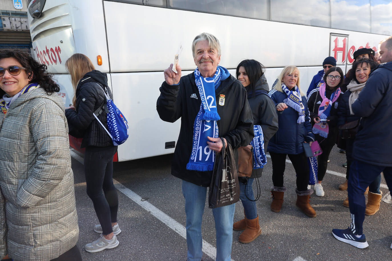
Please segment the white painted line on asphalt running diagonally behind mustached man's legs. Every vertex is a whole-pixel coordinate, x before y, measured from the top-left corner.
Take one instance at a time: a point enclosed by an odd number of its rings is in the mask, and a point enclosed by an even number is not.
[[[72,149],[71,149],[71,157],[73,157],[75,160],[77,160],[78,162],[83,164],[83,161],[84,161],[83,158],[80,157],[77,153],[75,153]],[[142,197],[141,196],[139,196],[138,194],[134,193],[133,191],[131,191],[131,189],[128,189],[127,187],[122,185],[117,180],[113,180],[113,183],[114,183],[114,186],[116,187],[116,189],[118,189],[118,191],[120,191],[125,196],[130,198],[136,204],[140,205],[140,207],[142,207],[143,209],[145,209],[148,212],[150,212],[152,214],[152,216],[154,216],[158,220],[162,221],[162,223],[164,223],[169,228],[174,230],[177,234],[179,234],[180,236],[182,236],[185,239],[187,238],[187,232],[186,232],[186,229],[185,229],[185,227],[183,225],[181,225],[176,220],[174,220],[171,217],[169,217],[164,212],[160,211],[160,209],[156,208],[154,205],[149,203],[147,200],[142,201]],[[202,251],[207,256],[211,257],[212,259],[216,258],[216,248],[213,247],[210,243],[208,243],[204,239],[203,239]],[[231,260],[234,261],[233,259],[231,259]]]

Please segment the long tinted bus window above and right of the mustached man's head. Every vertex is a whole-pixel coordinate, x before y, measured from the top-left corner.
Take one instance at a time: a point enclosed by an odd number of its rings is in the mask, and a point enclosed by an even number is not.
[[[169,0],[167,2],[169,7],[175,9],[268,19],[268,0]]]

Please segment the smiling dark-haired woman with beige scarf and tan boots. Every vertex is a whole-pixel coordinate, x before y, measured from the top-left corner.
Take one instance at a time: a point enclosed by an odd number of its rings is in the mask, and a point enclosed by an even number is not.
[[[344,93],[338,108],[338,126],[343,126],[348,122],[357,122],[359,126],[360,117],[354,115],[351,105],[358,98],[359,93],[365,87],[369,78],[370,70],[376,68],[378,63],[373,59],[358,59],[352,63],[351,71],[355,73],[347,85],[347,92]],[[358,130],[358,127],[357,127]],[[354,145],[356,130],[341,130],[341,137],[346,140],[346,187],[352,158],[352,147]],[[380,191],[381,174],[369,185],[368,203],[366,204],[365,214],[368,216],[376,214],[380,208],[382,192]],[[349,207],[348,197],[343,201],[345,207]]]

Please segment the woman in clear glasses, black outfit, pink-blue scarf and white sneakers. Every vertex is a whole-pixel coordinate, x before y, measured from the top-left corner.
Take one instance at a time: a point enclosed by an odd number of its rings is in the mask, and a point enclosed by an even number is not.
[[[324,196],[321,181],[327,171],[329,153],[338,137],[338,105],[343,95],[340,86],[343,83],[343,71],[339,67],[332,67],[324,75],[323,85],[312,90],[308,97],[310,121],[313,125],[315,138],[323,150],[317,158],[318,183],[314,185],[317,196]]]

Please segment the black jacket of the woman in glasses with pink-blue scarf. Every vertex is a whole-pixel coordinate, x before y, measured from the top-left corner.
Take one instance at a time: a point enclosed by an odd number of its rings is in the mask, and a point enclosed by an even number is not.
[[[326,88],[325,88],[325,96],[326,97],[330,98],[333,92],[334,91],[329,90],[328,87],[326,86]],[[336,141],[338,134],[339,134],[338,107],[339,107],[339,103],[341,101],[342,96],[343,96],[343,92],[341,92],[338,99],[333,104],[331,104],[331,111],[330,111],[329,116],[327,117],[327,120],[329,120],[328,121],[327,140],[331,141],[332,144]],[[307,103],[308,103],[308,108],[309,108],[310,122],[312,123],[312,126],[314,125],[313,119],[318,116],[318,110],[319,110],[319,107],[320,107],[320,104],[322,101],[323,101],[323,99],[321,98],[319,88],[312,90],[310,92],[310,94],[308,95]],[[321,142],[325,139],[324,137],[321,137],[319,134],[316,134],[315,137],[316,137],[316,140],[318,140],[318,142]],[[334,142],[332,142],[332,140]],[[328,142],[328,143],[330,143],[330,142]]]

